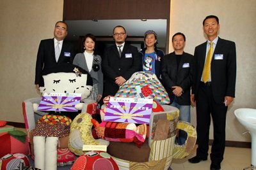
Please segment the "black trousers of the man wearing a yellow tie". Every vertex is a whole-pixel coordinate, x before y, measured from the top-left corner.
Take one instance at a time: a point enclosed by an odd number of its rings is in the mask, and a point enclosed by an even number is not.
[[[224,99],[223,99],[224,102]],[[212,96],[211,84],[200,83],[196,97],[196,131],[198,148],[196,155],[207,158],[209,150],[209,127],[213,122],[214,141],[211,149],[212,162],[221,163],[225,150],[225,127],[227,106],[216,103]]]

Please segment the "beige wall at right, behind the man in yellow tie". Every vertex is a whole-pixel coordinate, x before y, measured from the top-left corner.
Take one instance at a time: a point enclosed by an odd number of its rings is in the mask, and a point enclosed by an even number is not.
[[[241,135],[244,127],[237,122],[234,110],[256,108],[256,1],[255,0],[172,0],[170,42],[176,32],[186,35],[185,51],[193,54],[195,46],[206,41],[202,22],[207,15],[220,19],[220,37],[236,43],[237,80],[236,99],[228,108],[226,140],[250,141],[250,134]],[[170,43],[170,52],[173,51]],[[196,125],[195,108],[192,122]],[[210,138],[212,137],[212,126]]]

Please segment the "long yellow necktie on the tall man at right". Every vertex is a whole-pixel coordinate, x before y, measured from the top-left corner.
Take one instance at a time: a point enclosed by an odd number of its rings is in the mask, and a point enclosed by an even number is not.
[[[210,49],[207,53],[207,57],[204,64],[202,80],[205,83],[210,80],[211,60],[212,60],[212,42],[210,42]]]

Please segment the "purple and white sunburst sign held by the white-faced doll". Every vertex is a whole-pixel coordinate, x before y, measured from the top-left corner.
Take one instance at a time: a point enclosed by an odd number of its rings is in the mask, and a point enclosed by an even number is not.
[[[75,106],[80,103],[81,94],[45,93],[38,110],[40,111],[77,111]]]

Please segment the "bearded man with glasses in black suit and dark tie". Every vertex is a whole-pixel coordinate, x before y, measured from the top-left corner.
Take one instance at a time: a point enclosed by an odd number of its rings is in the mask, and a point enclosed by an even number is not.
[[[125,28],[116,26],[113,29],[115,45],[109,46],[102,57],[102,73],[105,79],[103,97],[115,96],[119,87],[133,73],[140,71],[141,59],[138,49],[125,43],[126,36]]]

